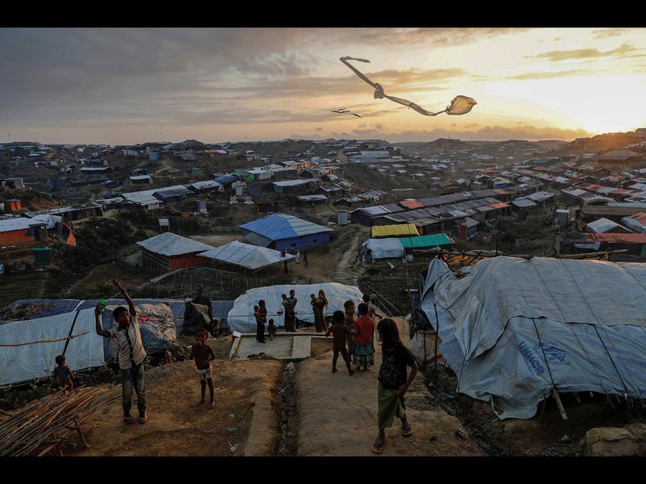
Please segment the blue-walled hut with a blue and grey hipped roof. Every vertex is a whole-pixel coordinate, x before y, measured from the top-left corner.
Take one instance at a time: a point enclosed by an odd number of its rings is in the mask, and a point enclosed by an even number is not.
[[[251,244],[271,249],[308,249],[330,241],[331,228],[306,220],[274,213],[240,225],[242,235]]]

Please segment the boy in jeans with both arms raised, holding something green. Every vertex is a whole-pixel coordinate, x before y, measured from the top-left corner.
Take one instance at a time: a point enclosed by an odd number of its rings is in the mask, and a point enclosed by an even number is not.
[[[94,310],[95,326],[97,335],[113,337],[119,344],[119,370],[122,386],[122,407],[124,410],[124,422],[131,424],[133,417],[130,413],[132,407],[133,387],[137,393],[137,410],[139,410],[139,423],[148,422],[146,415],[146,383],[144,381],[144,360],[146,351],[141,341],[137,311],[132,298],[116,279],[112,281],[117,290],[128,303],[128,309],[119,306],[113,310],[113,317],[117,328],[104,330],[101,327],[99,316],[101,308],[97,306]]]

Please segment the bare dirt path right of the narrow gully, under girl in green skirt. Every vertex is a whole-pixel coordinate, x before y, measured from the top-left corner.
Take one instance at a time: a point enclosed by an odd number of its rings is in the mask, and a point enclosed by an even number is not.
[[[408,344],[404,319],[399,333]],[[377,435],[376,377],[381,347],[376,344],[375,366],[348,376],[331,373],[332,352],[302,362],[295,378],[299,402],[299,456],[374,456],[370,444]],[[461,422],[429,403],[421,372],[406,393],[411,437],[399,433],[399,421],[386,429],[384,456],[481,456]]]

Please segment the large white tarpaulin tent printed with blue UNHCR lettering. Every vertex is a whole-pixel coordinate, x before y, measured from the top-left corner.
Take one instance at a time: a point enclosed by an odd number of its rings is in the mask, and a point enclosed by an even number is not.
[[[458,279],[434,259],[422,291],[458,391],[501,419],[554,390],[646,395],[645,307],[646,264],[627,262],[497,257]]]

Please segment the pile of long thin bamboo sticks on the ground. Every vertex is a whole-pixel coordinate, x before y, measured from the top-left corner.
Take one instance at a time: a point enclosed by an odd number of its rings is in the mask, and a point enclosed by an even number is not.
[[[44,456],[72,432],[90,447],[81,432],[81,422],[119,398],[116,392],[81,387],[35,400],[0,424],[0,456]]]

